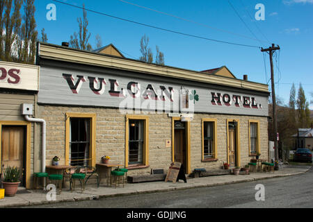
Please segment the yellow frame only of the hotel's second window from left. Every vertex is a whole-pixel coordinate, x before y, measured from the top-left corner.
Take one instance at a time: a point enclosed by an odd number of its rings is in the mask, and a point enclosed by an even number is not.
[[[126,115],[126,130],[125,130],[125,167],[129,167],[129,119],[143,120],[144,121],[144,139],[143,142],[143,165],[149,165],[149,117],[143,115],[134,115],[127,114]]]

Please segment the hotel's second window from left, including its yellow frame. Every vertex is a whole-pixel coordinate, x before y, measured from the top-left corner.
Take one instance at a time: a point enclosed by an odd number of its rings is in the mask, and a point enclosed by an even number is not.
[[[148,126],[148,117],[127,115],[125,167],[148,166]]]

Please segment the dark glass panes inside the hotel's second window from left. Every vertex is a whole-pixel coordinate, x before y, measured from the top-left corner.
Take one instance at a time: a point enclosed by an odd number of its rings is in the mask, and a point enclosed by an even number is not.
[[[129,164],[143,163],[143,120],[129,120]]]

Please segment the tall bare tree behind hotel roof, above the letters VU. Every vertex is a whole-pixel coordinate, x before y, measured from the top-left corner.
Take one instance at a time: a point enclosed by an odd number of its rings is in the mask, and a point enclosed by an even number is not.
[[[85,5],[83,5],[83,19],[79,17],[77,18],[77,22],[79,24],[79,33],[74,32],[74,34],[70,36],[70,47],[88,51],[93,50],[93,47],[88,43],[91,33],[88,33],[87,29],[88,19]]]

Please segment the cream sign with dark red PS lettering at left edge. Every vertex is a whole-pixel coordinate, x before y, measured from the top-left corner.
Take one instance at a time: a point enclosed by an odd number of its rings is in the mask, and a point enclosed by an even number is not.
[[[39,67],[0,62],[0,88],[38,91]]]

